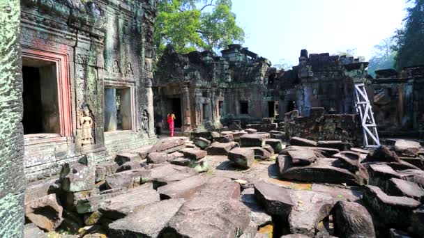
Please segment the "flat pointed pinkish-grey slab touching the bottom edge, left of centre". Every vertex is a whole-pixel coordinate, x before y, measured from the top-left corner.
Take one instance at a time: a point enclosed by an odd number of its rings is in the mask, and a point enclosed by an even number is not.
[[[109,224],[111,237],[158,237],[179,211],[183,199],[169,199],[138,207],[123,219]]]

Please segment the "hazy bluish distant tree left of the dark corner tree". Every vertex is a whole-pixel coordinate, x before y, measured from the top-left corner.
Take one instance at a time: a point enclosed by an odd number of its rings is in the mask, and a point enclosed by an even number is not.
[[[379,45],[374,45],[374,51],[368,65],[368,74],[375,77],[375,70],[385,70],[395,68],[396,51],[393,50],[395,38],[387,38],[381,41]]]

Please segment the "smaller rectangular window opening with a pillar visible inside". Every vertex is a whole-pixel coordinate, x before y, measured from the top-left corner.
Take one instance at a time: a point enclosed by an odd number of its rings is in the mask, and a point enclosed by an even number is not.
[[[105,132],[132,130],[131,88],[105,88]]]

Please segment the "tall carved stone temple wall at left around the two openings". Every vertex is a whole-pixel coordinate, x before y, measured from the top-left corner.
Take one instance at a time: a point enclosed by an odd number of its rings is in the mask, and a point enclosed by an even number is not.
[[[154,0],[22,0],[23,49],[66,58],[56,64],[68,79],[59,96],[61,117],[69,118],[67,133],[25,136],[29,180],[55,175],[61,164],[83,154],[93,153],[100,163],[113,159],[116,152],[156,141],[151,93],[155,16]],[[130,131],[107,136],[105,87],[130,88]],[[79,125],[84,108],[89,109],[91,129]],[[142,129],[143,111],[151,123],[148,131]]]

